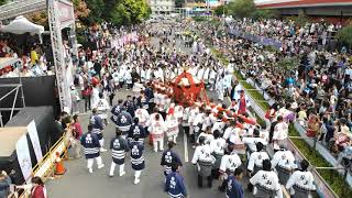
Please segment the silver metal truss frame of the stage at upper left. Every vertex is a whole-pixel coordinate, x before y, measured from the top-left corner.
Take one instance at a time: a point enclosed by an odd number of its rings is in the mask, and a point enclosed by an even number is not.
[[[61,6],[64,6],[66,10],[61,9]],[[73,3],[69,0],[15,0],[0,7],[0,21],[45,9],[47,9],[48,13],[48,26],[51,31],[61,110],[64,110],[65,107],[70,110],[72,97],[69,91],[67,91],[69,90],[70,85],[67,85],[68,80],[65,79],[65,76],[67,76],[67,74],[73,75],[70,70],[67,70],[66,68],[67,62],[72,62],[72,59],[69,58],[67,61],[67,57],[65,56],[62,30],[65,28],[70,29],[69,40],[73,47],[73,54],[78,57]],[[65,21],[61,21],[61,18],[67,13],[67,19]]]

